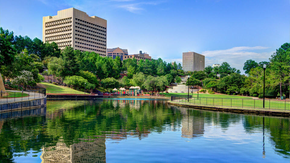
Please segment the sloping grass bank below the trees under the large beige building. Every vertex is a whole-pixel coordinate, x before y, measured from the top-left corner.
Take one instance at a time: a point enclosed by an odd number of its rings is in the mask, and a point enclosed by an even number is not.
[[[69,92],[73,92],[74,94],[82,94],[83,93],[82,91],[77,91],[75,89],[61,86],[61,85],[54,85],[54,84],[49,83],[49,82],[41,82],[38,86],[46,88],[46,93],[58,93],[58,94],[69,93]],[[86,94],[88,94],[88,93],[86,93]]]

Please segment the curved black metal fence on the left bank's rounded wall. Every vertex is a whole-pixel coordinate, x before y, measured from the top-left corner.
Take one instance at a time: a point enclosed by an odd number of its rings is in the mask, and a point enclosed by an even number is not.
[[[0,92],[0,103],[23,101],[46,96],[46,88],[26,87],[25,91]]]

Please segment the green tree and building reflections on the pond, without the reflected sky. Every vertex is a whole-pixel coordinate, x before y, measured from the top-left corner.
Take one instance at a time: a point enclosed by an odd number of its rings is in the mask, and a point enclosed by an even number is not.
[[[13,162],[32,150],[47,162],[105,162],[106,141],[142,140],[166,130],[195,139],[204,136],[205,126],[227,130],[232,124],[242,124],[248,134],[269,133],[272,148],[289,158],[288,118],[194,110],[163,100],[118,99],[47,101],[47,109],[38,115],[1,119],[0,158]],[[264,145],[262,151],[266,155]]]

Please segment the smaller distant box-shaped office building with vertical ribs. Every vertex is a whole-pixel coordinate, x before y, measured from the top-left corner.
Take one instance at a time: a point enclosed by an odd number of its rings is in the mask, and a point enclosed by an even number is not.
[[[195,52],[182,53],[182,69],[188,71],[203,71],[205,69],[205,56]]]

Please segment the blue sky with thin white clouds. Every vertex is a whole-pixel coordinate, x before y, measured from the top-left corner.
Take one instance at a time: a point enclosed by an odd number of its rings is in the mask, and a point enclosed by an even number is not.
[[[71,7],[107,20],[107,48],[166,62],[193,51],[243,73],[247,59],[268,61],[290,41],[290,0],[3,0],[0,26],[42,40],[42,17]]]

